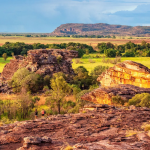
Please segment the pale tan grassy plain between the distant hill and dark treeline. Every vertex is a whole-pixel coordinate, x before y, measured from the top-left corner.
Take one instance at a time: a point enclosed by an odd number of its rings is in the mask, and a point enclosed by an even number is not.
[[[98,43],[101,42],[111,42],[113,44],[125,44],[129,41],[132,41],[136,44],[140,44],[142,40],[150,43],[149,37],[133,37],[129,39],[129,37],[116,37],[116,39],[112,38],[72,38],[72,37],[24,37],[24,36],[0,36],[0,45],[3,45],[5,42],[24,42],[28,44],[33,43],[42,43],[42,44],[60,44],[60,43],[84,43],[95,47]]]

